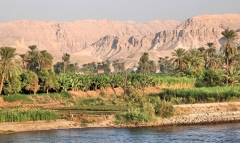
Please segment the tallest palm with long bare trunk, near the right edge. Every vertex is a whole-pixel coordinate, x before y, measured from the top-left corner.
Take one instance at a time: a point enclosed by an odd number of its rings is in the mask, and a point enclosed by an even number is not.
[[[227,42],[223,45],[222,47],[222,51],[223,54],[225,56],[225,60],[226,60],[226,85],[228,85],[228,70],[229,70],[229,61],[236,55],[238,55],[238,50],[237,48],[232,44],[232,40],[235,40],[238,35],[236,33],[236,31],[234,30],[228,30],[226,29],[225,31],[223,31],[221,33],[227,40]]]

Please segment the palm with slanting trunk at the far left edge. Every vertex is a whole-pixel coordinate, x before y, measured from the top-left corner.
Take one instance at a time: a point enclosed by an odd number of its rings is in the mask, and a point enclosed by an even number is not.
[[[11,47],[0,48],[0,67],[1,67],[1,83],[0,94],[2,94],[3,83],[6,77],[6,73],[9,70],[14,57],[17,55],[16,49]]]

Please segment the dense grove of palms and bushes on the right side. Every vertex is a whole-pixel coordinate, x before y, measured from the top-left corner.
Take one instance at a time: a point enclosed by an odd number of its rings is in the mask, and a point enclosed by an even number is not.
[[[172,58],[160,57],[160,71],[197,77],[197,86],[232,86],[239,82],[240,76],[240,45],[234,44],[238,38],[236,31],[226,29],[222,33],[226,42],[220,51],[214,43],[206,43],[206,47],[185,50],[175,49]],[[225,79],[223,81],[223,78]]]

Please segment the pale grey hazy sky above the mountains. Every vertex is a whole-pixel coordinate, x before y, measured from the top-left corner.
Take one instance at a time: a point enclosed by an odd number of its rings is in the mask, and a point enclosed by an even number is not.
[[[240,0],[0,0],[0,22],[21,19],[184,21],[200,14],[240,14]]]

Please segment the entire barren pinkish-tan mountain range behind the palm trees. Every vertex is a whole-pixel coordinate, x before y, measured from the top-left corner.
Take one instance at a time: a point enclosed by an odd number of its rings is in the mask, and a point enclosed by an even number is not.
[[[227,28],[240,33],[240,14],[200,15],[179,23],[156,20],[148,23],[112,20],[74,22],[15,21],[0,24],[0,46],[14,46],[19,51],[28,45],[50,51],[55,61],[68,52],[80,64],[122,60],[134,67],[143,52],[157,61],[170,56],[179,47],[190,49],[215,43],[220,48],[221,32]]]

